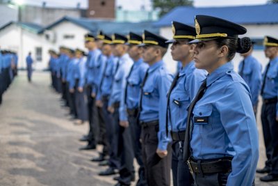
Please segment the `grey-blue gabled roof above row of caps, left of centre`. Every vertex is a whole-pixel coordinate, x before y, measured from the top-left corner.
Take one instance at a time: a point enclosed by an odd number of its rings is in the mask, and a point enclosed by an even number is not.
[[[48,30],[57,26],[61,22],[72,22],[73,24],[77,24],[84,29],[92,33],[97,33],[97,31],[102,30],[106,34],[112,33],[122,33],[127,34],[129,31],[133,31],[135,33],[142,33],[144,29],[151,31],[153,33],[159,33],[158,28],[153,26],[154,22],[114,22],[111,20],[99,20],[99,19],[89,19],[89,18],[74,18],[74,17],[63,17],[60,20],[50,24],[45,27],[44,30]],[[40,31],[41,33],[44,31]]]

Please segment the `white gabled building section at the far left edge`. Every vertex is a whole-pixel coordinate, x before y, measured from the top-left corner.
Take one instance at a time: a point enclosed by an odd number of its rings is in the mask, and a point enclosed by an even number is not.
[[[0,47],[17,52],[19,68],[26,68],[26,56],[32,53],[34,68],[43,69],[44,59],[49,58],[46,48],[51,45],[38,34],[42,27],[37,24],[10,22],[0,28]]]

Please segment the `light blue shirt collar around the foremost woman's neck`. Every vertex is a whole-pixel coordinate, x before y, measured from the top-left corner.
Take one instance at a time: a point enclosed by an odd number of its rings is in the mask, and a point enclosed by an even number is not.
[[[229,72],[230,70],[233,70],[233,64],[229,61],[228,63],[220,66],[216,70],[214,70],[211,75],[208,75],[208,78],[206,79],[206,86],[210,86],[215,82],[217,79],[222,77],[223,75],[226,74],[226,72]]]

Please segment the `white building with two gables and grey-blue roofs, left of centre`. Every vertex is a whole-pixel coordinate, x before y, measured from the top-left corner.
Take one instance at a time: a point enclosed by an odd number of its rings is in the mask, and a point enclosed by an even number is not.
[[[145,28],[158,33],[158,29],[154,29],[152,24],[153,22],[113,22],[74,17],[63,17],[44,28],[38,24],[10,22],[0,27],[0,47],[17,52],[19,68],[26,68],[25,58],[28,52],[32,52],[35,62],[33,67],[44,70],[48,68],[49,49],[58,51],[60,46],[85,49],[83,37],[86,33],[97,34],[97,31],[102,30],[106,34],[127,34],[129,31],[141,34]]]

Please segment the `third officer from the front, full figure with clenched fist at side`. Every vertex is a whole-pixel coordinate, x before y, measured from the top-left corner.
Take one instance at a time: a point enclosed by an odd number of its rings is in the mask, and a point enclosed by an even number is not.
[[[148,185],[170,185],[171,150],[165,130],[165,108],[172,76],[162,60],[168,44],[165,38],[149,31],[144,31],[142,38],[142,58],[149,64],[139,100],[142,158]]]

